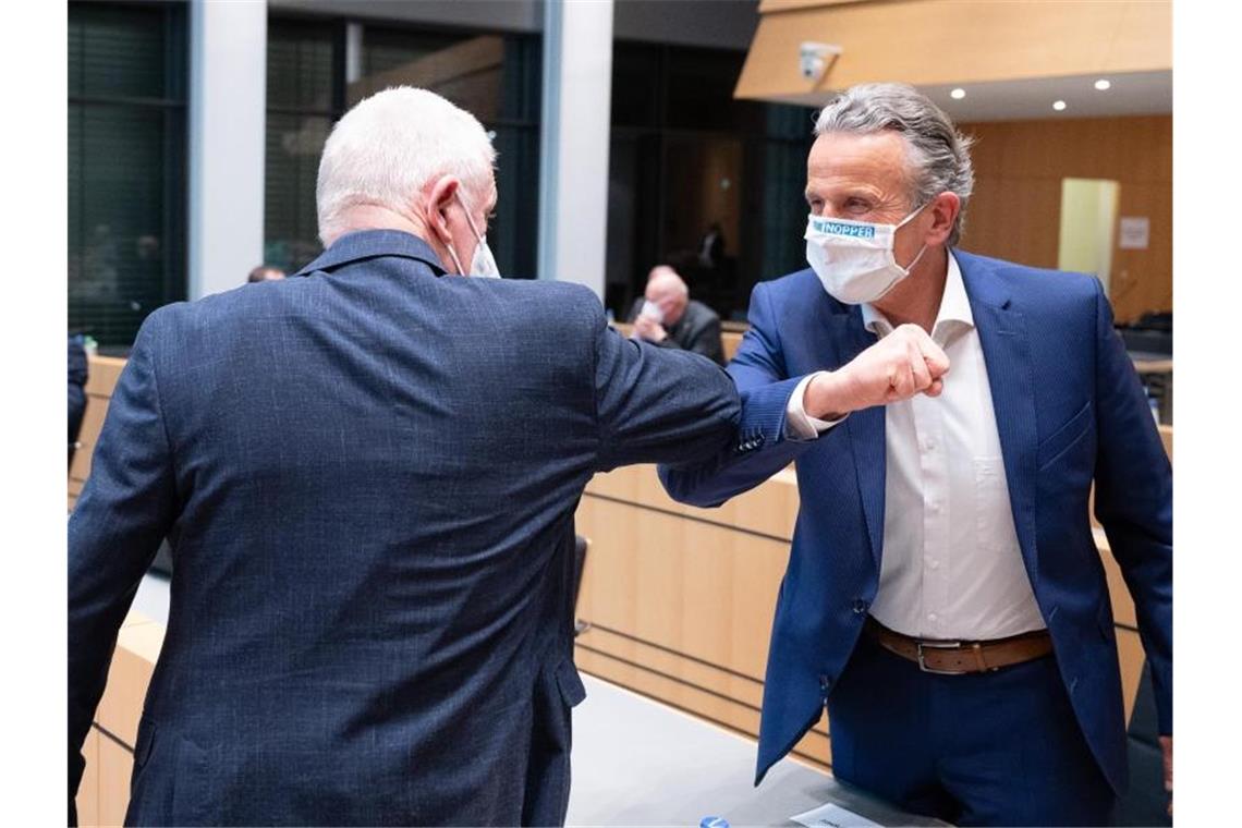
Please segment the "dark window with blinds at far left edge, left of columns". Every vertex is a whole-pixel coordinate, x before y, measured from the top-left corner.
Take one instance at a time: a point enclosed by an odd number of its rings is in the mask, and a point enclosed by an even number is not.
[[[68,326],[124,350],[185,298],[185,9],[68,6]]]

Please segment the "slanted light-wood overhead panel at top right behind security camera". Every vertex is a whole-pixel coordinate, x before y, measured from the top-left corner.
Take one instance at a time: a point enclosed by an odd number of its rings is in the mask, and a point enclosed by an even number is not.
[[[766,0],[734,97],[821,102],[831,89],[903,81],[971,84],[1172,68],[1172,4],[1040,0]],[[805,41],[842,47],[818,81]]]

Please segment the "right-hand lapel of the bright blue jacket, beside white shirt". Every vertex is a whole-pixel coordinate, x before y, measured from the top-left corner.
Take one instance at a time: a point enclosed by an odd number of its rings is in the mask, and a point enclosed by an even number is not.
[[[1038,432],[1030,333],[1026,319],[991,268],[969,254],[955,252],[955,256],[987,365],[1013,526],[1033,582],[1038,572],[1035,524]]]

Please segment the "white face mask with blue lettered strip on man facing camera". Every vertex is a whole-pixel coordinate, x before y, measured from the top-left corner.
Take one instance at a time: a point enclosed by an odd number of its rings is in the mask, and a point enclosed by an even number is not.
[[[895,225],[828,218],[812,214],[806,222],[806,261],[820,277],[823,289],[845,304],[863,304],[883,298],[910,274],[910,269],[927,251],[924,245],[905,267],[893,258],[893,238],[898,228],[919,215],[923,207]]]

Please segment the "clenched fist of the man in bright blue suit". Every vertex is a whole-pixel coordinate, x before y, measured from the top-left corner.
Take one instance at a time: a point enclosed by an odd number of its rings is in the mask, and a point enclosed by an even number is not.
[[[806,413],[840,420],[851,411],[909,400],[915,394],[939,396],[949,358],[918,325],[902,325],[888,336],[806,387]]]

